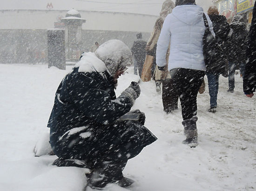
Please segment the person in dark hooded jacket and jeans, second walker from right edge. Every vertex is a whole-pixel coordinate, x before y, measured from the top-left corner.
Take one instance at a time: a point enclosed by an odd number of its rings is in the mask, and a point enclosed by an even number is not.
[[[235,88],[235,70],[239,67],[243,76],[245,66],[245,51],[248,32],[246,24],[241,15],[236,15],[230,24],[230,32],[226,41],[225,48],[229,61],[229,89],[233,93]]]

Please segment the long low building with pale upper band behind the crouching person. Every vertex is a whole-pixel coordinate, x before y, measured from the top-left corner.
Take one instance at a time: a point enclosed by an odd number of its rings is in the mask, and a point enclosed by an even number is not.
[[[47,29],[65,28],[61,19],[68,10],[0,10],[0,63],[47,63]],[[89,51],[95,41],[120,39],[132,47],[136,33],[148,40],[157,16],[80,11],[81,51]]]

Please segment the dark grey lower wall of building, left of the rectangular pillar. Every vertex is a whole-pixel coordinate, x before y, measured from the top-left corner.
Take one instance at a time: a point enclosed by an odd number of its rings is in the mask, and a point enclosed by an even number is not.
[[[47,30],[0,30],[0,63],[46,63]]]

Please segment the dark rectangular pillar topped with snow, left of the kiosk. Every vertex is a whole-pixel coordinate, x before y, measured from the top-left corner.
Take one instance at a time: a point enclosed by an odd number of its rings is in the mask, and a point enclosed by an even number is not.
[[[47,31],[47,45],[48,68],[55,66],[61,70],[66,70],[65,30],[49,29]]]

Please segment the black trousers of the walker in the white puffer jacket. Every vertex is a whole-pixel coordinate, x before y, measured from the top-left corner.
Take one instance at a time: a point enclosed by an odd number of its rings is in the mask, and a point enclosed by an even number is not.
[[[180,97],[183,120],[197,114],[197,93],[202,84],[205,71],[175,68],[170,70],[174,91]]]

